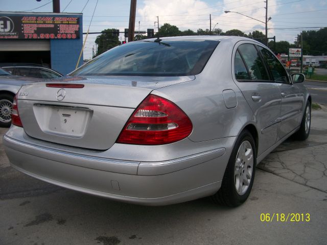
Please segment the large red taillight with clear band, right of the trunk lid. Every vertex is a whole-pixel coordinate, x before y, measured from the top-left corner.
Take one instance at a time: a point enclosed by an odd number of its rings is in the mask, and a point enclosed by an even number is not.
[[[126,144],[168,144],[188,137],[190,118],[174,103],[150,94],[127,121],[117,142]]]

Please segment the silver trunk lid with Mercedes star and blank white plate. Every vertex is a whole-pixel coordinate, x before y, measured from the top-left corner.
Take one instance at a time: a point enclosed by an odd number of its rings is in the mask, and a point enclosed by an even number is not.
[[[52,83],[27,84],[17,95],[19,116],[26,134],[31,137],[106,150],[114,144],[135,108],[154,88],[192,79],[146,80],[66,78]]]

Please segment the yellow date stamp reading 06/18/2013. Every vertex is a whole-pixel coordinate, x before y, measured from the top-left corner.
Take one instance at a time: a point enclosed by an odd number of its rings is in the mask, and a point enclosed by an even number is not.
[[[261,222],[310,222],[310,213],[261,213]]]

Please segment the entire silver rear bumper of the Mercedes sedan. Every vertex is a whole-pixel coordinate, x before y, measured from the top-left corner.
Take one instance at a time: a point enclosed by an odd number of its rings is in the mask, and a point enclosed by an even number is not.
[[[168,205],[214,194],[229,158],[225,148],[218,148],[161,162],[104,159],[8,135],[4,145],[11,165],[22,173],[65,188],[143,205]]]

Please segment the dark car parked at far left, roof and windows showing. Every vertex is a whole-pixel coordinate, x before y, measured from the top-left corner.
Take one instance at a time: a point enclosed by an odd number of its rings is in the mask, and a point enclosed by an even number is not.
[[[5,63],[0,64],[0,67],[2,67],[4,70],[8,71],[12,75],[22,77],[42,79],[53,79],[62,77],[62,74],[60,74],[58,71],[38,64]]]

